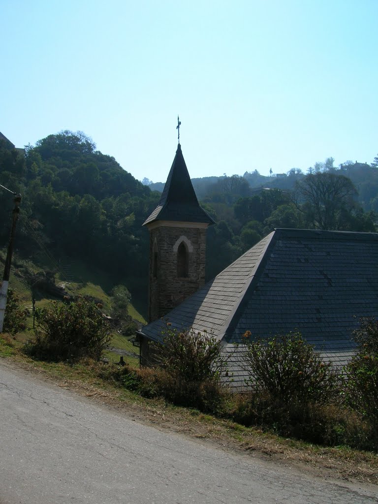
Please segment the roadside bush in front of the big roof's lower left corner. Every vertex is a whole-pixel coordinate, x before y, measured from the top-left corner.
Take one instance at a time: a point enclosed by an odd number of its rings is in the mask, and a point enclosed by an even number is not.
[[[156,391],[175,404],[221,412],[227,395],[221,384],[228,374],[227,360],[213,334],[176,331],[168,323],[162,343],[150,343],[150,354],[158,369],[154,390],[158,386]]]

